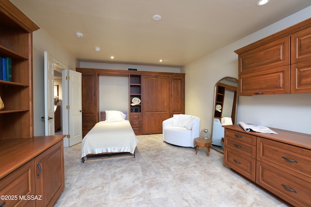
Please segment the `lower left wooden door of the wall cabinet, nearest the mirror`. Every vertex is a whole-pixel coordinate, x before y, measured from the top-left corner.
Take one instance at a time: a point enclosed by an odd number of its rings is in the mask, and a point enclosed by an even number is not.
[[[290,66],[239,76],[239,95],[285,94],[290,92]]]

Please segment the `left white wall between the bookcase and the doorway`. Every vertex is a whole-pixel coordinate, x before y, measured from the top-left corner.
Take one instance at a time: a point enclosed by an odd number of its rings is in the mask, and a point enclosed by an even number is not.
[[[38,25],[40,27],[40,25]],[[33,33],[33,95],[34,95],[34,135],[43,136],[44,121],[44,51],[63,63],[69,69],[75,70],[77,61],[43,29]]]

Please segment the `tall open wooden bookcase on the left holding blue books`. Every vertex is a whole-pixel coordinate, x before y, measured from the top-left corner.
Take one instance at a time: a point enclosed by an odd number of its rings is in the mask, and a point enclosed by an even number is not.
[[[12,81],[0,80],[0,139],[34,136],[32,44],[39,29],[8,0],[0,1],[0,57],[12,60]]]

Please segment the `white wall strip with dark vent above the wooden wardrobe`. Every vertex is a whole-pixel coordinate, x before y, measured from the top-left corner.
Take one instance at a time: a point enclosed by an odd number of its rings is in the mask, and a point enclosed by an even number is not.
[[[126,64],[112,64],[112,63],[80,62],[80,68],[86,68],[86,69],[121,69],[121,70],[127,70],[127,68],[138,68],[138,71],[155,71],[155,72],[176,72],[176,73],[180,73],[180,68],[158,67],[158,66],[126,65]]]

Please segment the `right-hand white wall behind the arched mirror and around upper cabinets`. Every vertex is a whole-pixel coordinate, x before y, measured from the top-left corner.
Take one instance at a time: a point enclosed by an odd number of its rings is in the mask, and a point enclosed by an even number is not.
[[[186,73],[186,113],[201,117],[201,129],[211,128],[215,83],[238,78],[235,50],[311,17],[311,6],[181,68]],[[311,134],[311,93],[239,97],[237,121]]]

